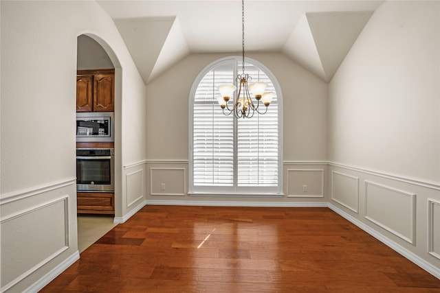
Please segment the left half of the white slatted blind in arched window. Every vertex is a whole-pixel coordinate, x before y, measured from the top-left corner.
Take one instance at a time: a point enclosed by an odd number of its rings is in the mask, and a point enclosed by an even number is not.
[[[194,185],[232,186],[234,184],[234,121],[223,115],[216,97],[219,84],[234,80],[229,69],[212,70],[199,83],[195,93],[193,119]]]

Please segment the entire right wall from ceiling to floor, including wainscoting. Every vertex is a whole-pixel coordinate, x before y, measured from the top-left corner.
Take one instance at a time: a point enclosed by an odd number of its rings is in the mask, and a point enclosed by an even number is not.
[[[440,3],[387,1],[329,84],[330,205],[440,278]]]

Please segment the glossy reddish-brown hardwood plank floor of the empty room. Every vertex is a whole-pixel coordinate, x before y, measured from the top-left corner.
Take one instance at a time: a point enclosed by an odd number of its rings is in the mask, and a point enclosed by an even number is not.
[[[41,292],[440,292],[327,208],[146,206]]]

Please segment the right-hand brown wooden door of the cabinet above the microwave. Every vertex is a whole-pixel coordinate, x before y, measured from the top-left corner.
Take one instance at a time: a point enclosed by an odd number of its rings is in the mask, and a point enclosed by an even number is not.
[[[94,111],[113,112],[114,106],[114,74],[94,75]]]

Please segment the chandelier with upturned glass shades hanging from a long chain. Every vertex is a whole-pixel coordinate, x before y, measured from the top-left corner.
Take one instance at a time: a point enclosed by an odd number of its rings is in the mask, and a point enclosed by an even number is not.
[[[267,107],[270,102],[272,102],[272,97],[274,97],[275,93],[265,93],[265,89],[267,87],[267,83],[265,82],[254,82],[252,84],[248,84],[252,80],[249,74],[245,74],[245,1],[241,1],[241,30],[242,30],[242,74],[236,76],[236,83],[239,84],[239,91],[236,95],[236,99],[234,102],[234,106],[229,108],[228,101],[232,97],[232,94],[236,90],[236,86],[233,84],[220,84],[217,86],[221,97],[217,97],[217,100],[223,110],[224,115],[230,115],[234,113],[234,117],[236,118],[252,118],[254,113],[259,113],[261,115],[267,113]],[[253,101],[250,91],[254,95],[255,102]],[[261,104],[264,104],[265,110],[261,112],[259,110]],[[260,108],[261,109],[261,108]]]

